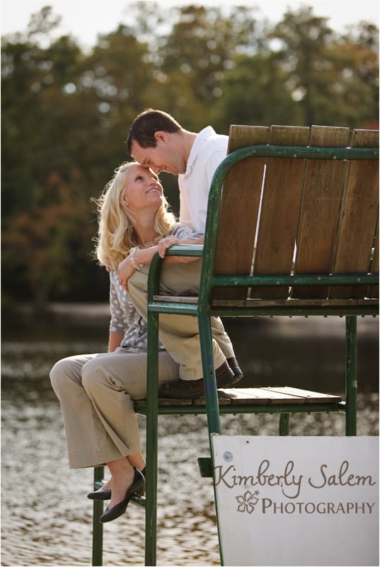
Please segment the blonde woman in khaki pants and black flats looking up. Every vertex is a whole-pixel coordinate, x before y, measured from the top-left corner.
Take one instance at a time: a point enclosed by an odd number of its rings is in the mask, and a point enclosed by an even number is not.
[[[96,254],[110,271],[108,353],[64,358],[52,368],[50,380],[62,407],[70,467],[107,464],[110,470],[102,489],[88,494],[110,498],[100,518],[109,522],[125,512],[133,493],[143,491],[145,467],[132,399],[146,397],[146,322],[129,300],[127,279],[119,281],[117,267],[127,257],[132,275],[141,267],[134,259],[136,247],[140,264],[147,264],[157,251],[164,257],[169,246],[194,243],[201,235],[176,223],[157,175],[137,163],[116,170],[99,211]],[[216,366],[225,366],[217,344],[214,351]],[[178,381],[179,368],[160,344],[159,382]]]

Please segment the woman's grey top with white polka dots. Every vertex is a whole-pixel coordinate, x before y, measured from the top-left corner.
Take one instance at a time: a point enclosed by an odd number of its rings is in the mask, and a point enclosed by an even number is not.
[[[175,226],[172,234],[180,240],[196,240],[202,236],[183,225]],[[128,292],[120,286],[115,269],[110,271],[110,315],[110,332],[124,334],[120,344],[122,349],[146,351],[148,346],[146,321],[134,308]],[[159,349],[165,350],[161,342]]]

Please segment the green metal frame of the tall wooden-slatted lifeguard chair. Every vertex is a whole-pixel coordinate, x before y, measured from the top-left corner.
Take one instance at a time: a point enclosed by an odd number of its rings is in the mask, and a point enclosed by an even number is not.
[[[200,293],[198,303],[170,303],[155,301],[159,295],[159,281],[162,259],[156,255],[151,262],[148,282],[148,356],[146,402],[137,402],[135,409],[146,414],[146,534],[145,565],[156,565],[156,522],[157,522],[157,435],[159,414],[207,414],[210,455],[212,455],[213,433],[221,433],[220,414],[227,413],[277,413],[280,414],[280,435],[289,432],[289,417],[299,411],[344,411],[346,416],[346,435],[356,435],[356,394],[357,394],[357,315],[377,315],[378,306],[369,305],[309,305],[301,307],[297,300],[289,305],[273,307],[261,306],[260,300],[252,300],[248,305],[212,305],[212,291],[215,287],[231,286],[342,286],[379,285],[378,275],[369,274],[308,274],[303,276],[216,276],[213,274],[214,255],[219,224],[219,206],[224,178],[231,168],[241,160],[255,157],[331,159],[331,160],[376,160],[378,148],[310,148],[298,146],[249,146],[229,154],[219,165],[212,180],[209,192],[205,244],[203,246],[173,246],[167,251],[172,256],[202,257]],[[338,303],[338,302],[337,302]],[[196,316],[200,329],[202,369],[205,379],[205,405],[203,406],[161,406],[158,405],[158,363],[159,363],[159,313],[173,313]],[[209,317],[273,316],[273,315],[338,315],[346,319],[346,402],[340,404],[308,404],[307,406],[223,406],[219,407],[214,361],[211,348],[211,327]],[[204,469],[209,467],[207,459]],[[215,499],[217,505],[217,500]],[[142,505],[142,503],[139,503]],[[218,514],[218,510],[217,510]],[[220,536],[219,536],[220,537]],[[101,559],[100,559],[101,561]],[[101,563],[93,563],[100,565]]]

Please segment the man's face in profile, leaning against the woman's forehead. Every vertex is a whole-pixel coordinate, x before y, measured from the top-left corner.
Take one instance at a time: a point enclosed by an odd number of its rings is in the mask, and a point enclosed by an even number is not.
[[[178,175],[185,173],[186,162],[183,159],[178,138],[168,132],[156,132],[155,148],[142,148],[137,141],[132,142],[131,155],[144,168],[151,168],[157,175],[161,171]]]

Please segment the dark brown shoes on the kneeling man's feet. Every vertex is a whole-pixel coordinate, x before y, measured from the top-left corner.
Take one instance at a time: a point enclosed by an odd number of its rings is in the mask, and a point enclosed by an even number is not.
[[[236,376],[229,364],[224,363],[215,370],[217,387],[226,387],[236,382]],[[205,383],[200,380],[181,380],[177,382],[165,382],[159,387],[159,397],[173,399],[195,399],[205,395]]]

